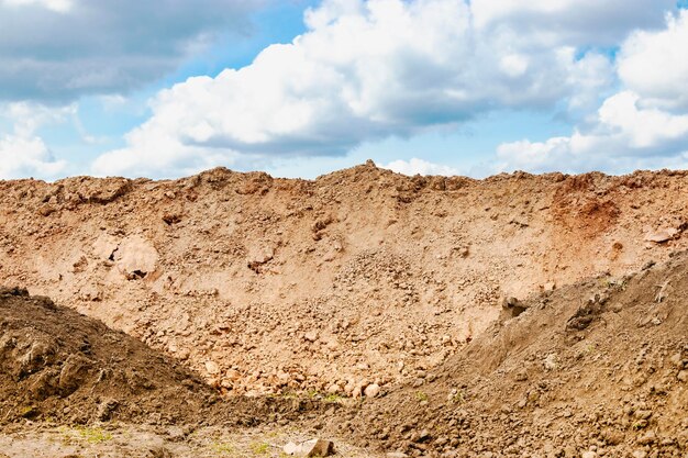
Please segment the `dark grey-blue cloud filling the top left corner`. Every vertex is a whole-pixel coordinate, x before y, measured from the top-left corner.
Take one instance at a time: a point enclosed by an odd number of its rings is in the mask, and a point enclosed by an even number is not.
[[[262,0],[0,0],[0,100],[71,101],[157,80]]]

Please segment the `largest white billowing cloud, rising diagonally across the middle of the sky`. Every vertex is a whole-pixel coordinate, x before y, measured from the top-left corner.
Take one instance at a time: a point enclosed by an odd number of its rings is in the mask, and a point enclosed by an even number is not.
[[[610,57],[595,46],[659,25],[672,5],[554,3],[326,0],[306,13],[308,31],[292,43],[160,91],[153,116],[93,171],[157,175],[238,157],[343,155],[495,108],[589,111],[614,83]],[[598,23],[614,25],[598,33]]]

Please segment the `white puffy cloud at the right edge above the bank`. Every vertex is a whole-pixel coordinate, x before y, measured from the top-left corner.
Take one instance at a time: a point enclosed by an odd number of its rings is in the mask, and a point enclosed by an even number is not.
[[[497,170],[619,172],[688,166],[688,11],[666,27],[636,32],[621,46],[624,89],[601,104],[592,122],[570,136],[499,146]]]

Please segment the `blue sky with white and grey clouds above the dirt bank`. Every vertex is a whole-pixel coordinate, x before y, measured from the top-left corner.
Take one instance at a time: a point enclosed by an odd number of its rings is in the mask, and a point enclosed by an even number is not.
[[[0,179],[688,168],[686,0],[0,0]]]

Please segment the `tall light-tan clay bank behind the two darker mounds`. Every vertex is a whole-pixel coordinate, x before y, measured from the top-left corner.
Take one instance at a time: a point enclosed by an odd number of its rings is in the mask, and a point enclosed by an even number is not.
[[[685,172],[0,181],[0,282],[233,393],[430,370],[524,298],[687,247]]]

